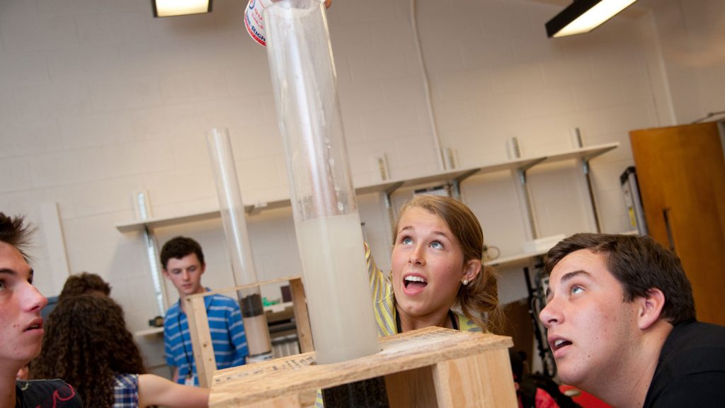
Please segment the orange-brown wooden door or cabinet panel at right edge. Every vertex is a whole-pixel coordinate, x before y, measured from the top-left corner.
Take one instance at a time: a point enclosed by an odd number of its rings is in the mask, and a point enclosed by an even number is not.
[[[629,132],[650,235],[682,259],[697,319],[725,325],[725,159],[718,123]]]

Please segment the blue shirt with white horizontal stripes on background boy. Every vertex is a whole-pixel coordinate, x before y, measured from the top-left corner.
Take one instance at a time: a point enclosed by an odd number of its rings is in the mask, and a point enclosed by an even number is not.
[[[199,385],[186,313],[181,311],[179,302],[167,311],[164,318],[166,362],[171,367],[178,368],[178,383],[184,383],[191,369],[191,373],[194,375],[194,385]],[[204,298],[204,307],[207,309],[217,370],[244,364],[249,349],[239,304],[227,296],[210,295]]]

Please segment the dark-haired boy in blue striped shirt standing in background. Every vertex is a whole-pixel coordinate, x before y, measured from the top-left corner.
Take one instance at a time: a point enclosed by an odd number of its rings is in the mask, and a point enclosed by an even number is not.
[[[188,295],[209,291],[202,286],[202,274],[207,267],[202,246],[191,238],[175,237],[164,244],[160,258],[164,276],[179,292],[179,301],[164,318],[166,362],[173,367],[176,382],[199,385],[184,299]],[[209,318],[217,369],[244,364],[249,350],[239,304],[227,296],[210,295],[204,297],[204,307]]]

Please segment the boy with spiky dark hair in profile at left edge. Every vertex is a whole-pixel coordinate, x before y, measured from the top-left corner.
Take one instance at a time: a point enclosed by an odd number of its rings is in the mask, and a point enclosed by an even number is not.
[[[18,371],[41,351],[48,300],[33,286],[25,248],[32,229],[22,216],[0,213],[0,407],[82,407],[62,380],[15,380]]]

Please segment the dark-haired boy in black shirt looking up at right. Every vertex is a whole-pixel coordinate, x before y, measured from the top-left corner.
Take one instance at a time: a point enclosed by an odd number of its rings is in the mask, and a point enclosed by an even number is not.
[[[564,383],[614,407],[725,401],[725,327],[697,322],[674,253],[650,237],[575,234],[546,269],[539,319]]]

